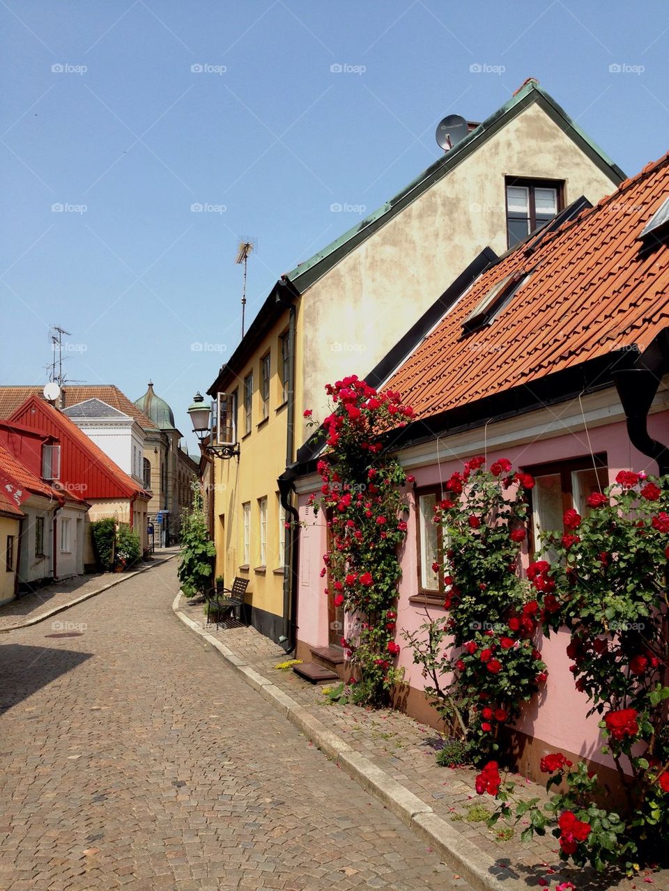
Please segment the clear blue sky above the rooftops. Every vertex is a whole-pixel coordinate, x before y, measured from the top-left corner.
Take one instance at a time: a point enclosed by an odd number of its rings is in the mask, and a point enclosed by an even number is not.
[[[152,378],[191,445],[185,408],[240,338],[239,236],[257,239],[250,322],[281,273],[360,218],[330,205],[378,207],[439,157],[439,119],[484,119],[530,75],[628,175],[669,148],[666,0],[0,0],[0,14],[0,382],[46,380],[57,323],[71,380],[135,399]]]

